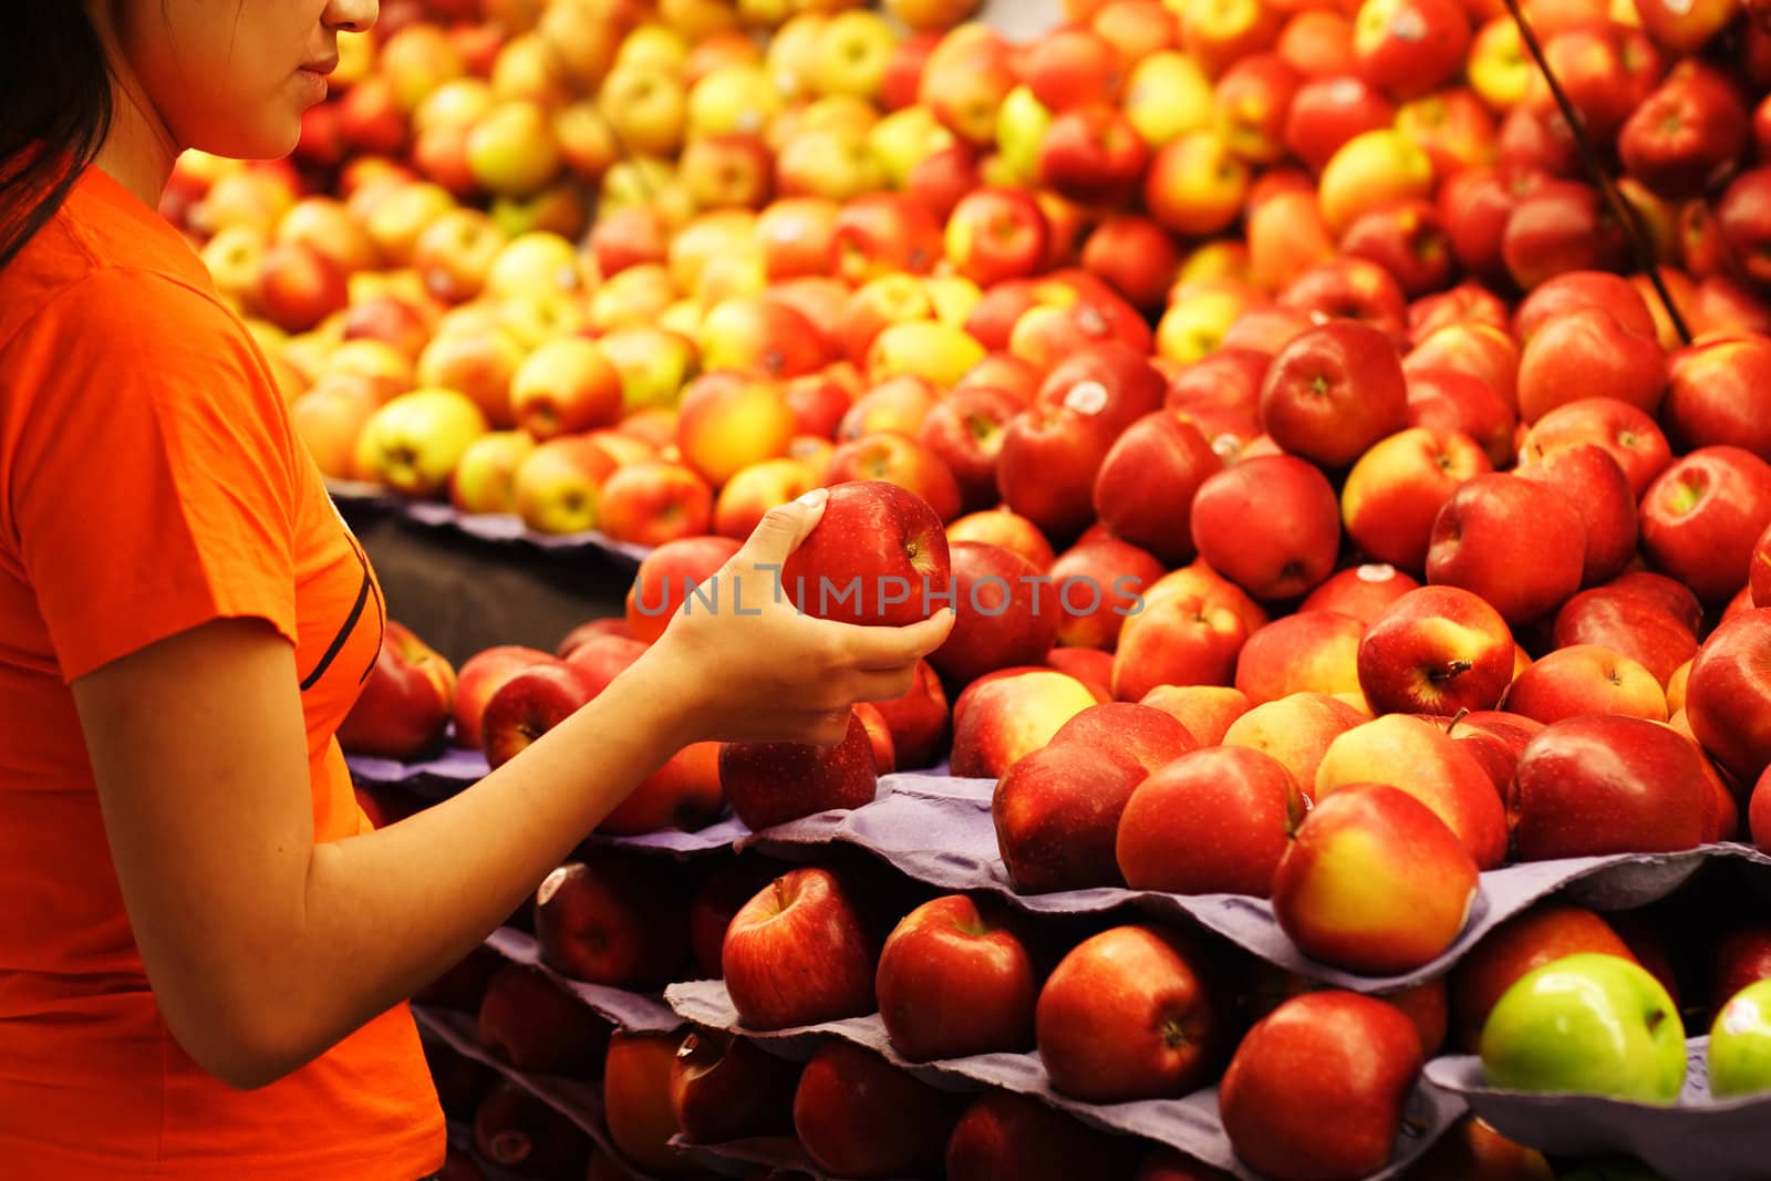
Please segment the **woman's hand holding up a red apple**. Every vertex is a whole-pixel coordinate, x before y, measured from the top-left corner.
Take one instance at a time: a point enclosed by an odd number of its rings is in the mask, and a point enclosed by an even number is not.
[[[841,742],[850,706],[909,692],[916,662],[953,629],[949,609],[907,627],[802,614],[779,570],[824,505],[818,489],[770,510],[641,657],[650,683],[682,685],[691,742]]]

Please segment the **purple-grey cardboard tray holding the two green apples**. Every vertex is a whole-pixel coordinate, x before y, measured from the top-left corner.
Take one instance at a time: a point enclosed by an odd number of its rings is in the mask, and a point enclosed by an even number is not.
[[[1427,1080],[1459,1096],[1505,1137],[1558,1156],[1631,1153],[1667,1181],[1762,1181],[1771,1176],[1771,1094],[1709,1094],[1709,1038],[1686,1039],[1684,1091],[1663,1107],[1583,1094],[1527,1094],[1482,1085],[1472,1055],[1435,1059]]]

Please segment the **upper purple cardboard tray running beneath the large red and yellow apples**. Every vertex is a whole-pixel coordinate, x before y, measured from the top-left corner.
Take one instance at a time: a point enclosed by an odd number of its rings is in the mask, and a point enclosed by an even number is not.
[[[1571,857],[1505,866],[1482,875],[1481,891],[1458,942],[1431,963],[1396,976],[1358,976],[1303,956],[1280,930],[1266,899],[1247,894],[1164,894],[1096,887],[1017,894],[997,852],[990,818],[994,779],[886,776],[871,804],[820,813],[753,834],[744,845],[790,850],[832,841],[857,845],[912,878],[949,891],[990,891],[1032,914],[1142,914],[1192,919],[1282,969],[1358,992],[1394,992],[1443,974],[1482,935],[1539,898],[1564,892],[1596,910],[1626,910],[1665,898],[1705,861],[1741,859],[1771,866],[1746,845],[1707,845],[1679,853]]]

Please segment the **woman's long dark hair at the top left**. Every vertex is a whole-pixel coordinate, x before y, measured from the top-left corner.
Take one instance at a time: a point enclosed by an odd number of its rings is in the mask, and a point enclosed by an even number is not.
[[[0,267],[62,207],[110,124],[110,67],[80,0],[0,0]]]

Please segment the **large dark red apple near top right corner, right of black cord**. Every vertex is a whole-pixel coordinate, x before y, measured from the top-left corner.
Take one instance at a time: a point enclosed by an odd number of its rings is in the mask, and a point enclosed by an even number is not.
[[[1748,143],[1746,101],[1721,71],[1674,66],[1617,133],[1624,172],[1670,200],[1702,197]]]

